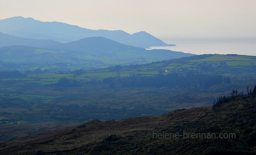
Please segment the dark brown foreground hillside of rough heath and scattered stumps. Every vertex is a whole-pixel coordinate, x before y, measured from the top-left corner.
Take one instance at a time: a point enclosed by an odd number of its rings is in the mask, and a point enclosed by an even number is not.
[[[218,111],[213,111],[212,106],[197,107],[122,121],[94,120],[72,129],[2,142],[0,153],[254,154],[255,100],[255,96],[236,98],[220,105]],[[180,136],[161,136],[172,133]],[[193,133],[197,138],[186,137]]]

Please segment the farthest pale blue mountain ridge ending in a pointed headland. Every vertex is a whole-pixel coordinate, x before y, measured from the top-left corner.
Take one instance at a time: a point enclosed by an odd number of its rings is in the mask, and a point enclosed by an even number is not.
[[[33,18],[12,17],[0,20],[0,32],[32,39],[52,39],[61,42],[77,41],[87,37],[101,36],[135,47],[175,46],[168,45],[146,33],[126,33],[122,30],[91,30],[61,22],[41,22]]]

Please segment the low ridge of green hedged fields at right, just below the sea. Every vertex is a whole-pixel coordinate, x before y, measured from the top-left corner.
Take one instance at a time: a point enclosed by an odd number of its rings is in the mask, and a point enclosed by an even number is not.
[[[161,51],[161,50],[160,50]],[[205,54],[164,60],[141,65],[124,66],[122,70],[159,71],[186,73],[221,74],[234,76],[248,73],[248,77],[256,73],[256,56]]]

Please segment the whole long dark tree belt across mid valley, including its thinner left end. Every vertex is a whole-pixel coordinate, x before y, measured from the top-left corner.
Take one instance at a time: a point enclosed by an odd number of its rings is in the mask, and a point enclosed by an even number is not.
[[[82,74],[82,70],[74,72],[76,74]],[[142,76],[132,75],[129,77],[109,77],[103,80],[69,80],[67,78],[60,78],[57,83],[48,86],[57,87],[77,87],[81,85],[95,85],[95,84],[107,84],[110,88],[119,85],[123,88],[132,87],[169,87],[169,88],[200,88],[208,89],[217,84],[230,84],[229,77],[222,77],[220,75],[206,75],[201,73],[187,72],[186,75],[179,73],[169,73],[167,75],[158,74],[155,76]]]

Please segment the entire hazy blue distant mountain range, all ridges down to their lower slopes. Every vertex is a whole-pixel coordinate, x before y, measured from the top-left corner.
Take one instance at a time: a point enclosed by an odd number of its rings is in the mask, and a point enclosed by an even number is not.
[[[71,66],[90,70],[194,55],[171,50],[145,49],[151,46],[172,45],[167,45],[146,32],[131,35],[121,30],[90,30],[60,22],[41,22],[23,17],[0,20],[0,63],[15,63],[16,66],[4,64],[2,70],[29,70],[31,64],[55,63],[63,63],[61,70],[70,70]],[[19,68],[24,63],[31,63],[30,67]],[[53,65],[52,68],[56,66]]]

